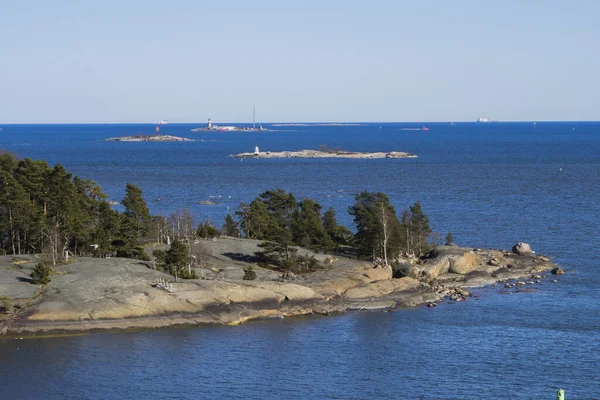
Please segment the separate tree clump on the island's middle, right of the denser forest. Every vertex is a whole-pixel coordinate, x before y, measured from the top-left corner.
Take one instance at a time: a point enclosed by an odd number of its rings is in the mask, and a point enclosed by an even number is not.
[[[238,207],[236,223],[228,215],[225,226],[241,235],[263,242],[256,255],[265,263],[284,270],[318,268],[316,260],[297,255],[297,247],[313,251],[353,248],[361,258],[381,260],[389,265],[401,253],[419,257],[429,248],[429,218],[416,202],[398,217],[389,198],[383,193],[362,192],[348,208],[356,233],[337,223],[335,210],[311,199],[297,200],[283,189],[268,190],[250,203]],[[235,225],[233,225],[235,224]]]

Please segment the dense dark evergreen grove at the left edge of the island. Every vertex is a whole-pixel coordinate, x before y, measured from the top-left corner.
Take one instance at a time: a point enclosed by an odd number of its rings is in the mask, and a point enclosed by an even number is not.
[[[134,218],[122,217],[106,199],[99,185],[72,177],[61,165],[0,154],[0,251],[48,253],[53,264],[67,251],[91,252],[92,244],[107,251],[113,242],[136,253]]]

